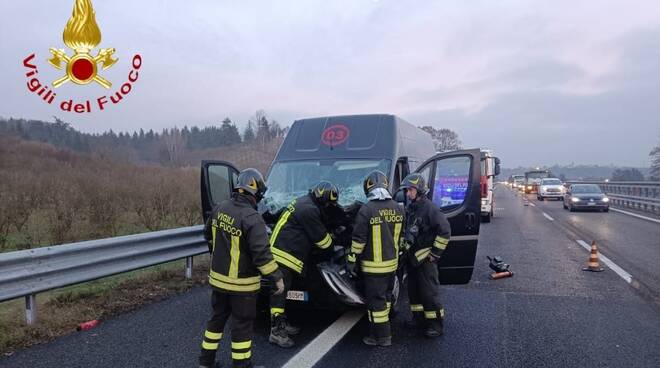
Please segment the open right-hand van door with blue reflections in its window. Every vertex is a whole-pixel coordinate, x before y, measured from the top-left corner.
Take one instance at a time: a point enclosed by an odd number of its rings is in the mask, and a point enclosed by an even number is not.
[[[480,166],[481,153],[472,149],[437,154],[417,170],[451,225],[449,245],[437,264],[442,284],[466,284],[472,278],[479,243]]]

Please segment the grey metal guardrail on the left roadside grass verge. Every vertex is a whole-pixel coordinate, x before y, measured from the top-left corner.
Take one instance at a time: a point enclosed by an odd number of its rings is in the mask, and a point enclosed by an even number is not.
[[[90,240],[0,254],[0,302],[25,297],[28,324],[37,319],[36,295],[47,290],[186,259],[208,252],[203,226]]]

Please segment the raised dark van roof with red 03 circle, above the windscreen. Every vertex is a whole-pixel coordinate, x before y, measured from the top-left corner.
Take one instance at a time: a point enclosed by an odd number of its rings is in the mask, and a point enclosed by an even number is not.
[[[296,120],[275,160],[432,155],[430,135],[395,115],[337,115]]]

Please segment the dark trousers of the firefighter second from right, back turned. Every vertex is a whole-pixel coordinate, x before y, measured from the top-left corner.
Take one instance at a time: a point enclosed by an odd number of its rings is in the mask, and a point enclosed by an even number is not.
[[[391,309],[391,283],[394,273],[383,275],[364,275],[364,294],[367,299],[367,318],[370,335],[388,337],[392,335],[389,313]]]

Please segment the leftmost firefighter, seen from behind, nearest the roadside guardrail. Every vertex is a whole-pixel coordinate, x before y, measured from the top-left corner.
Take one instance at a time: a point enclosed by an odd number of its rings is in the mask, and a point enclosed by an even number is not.
[[[284,291],[282,273],[270,252],[266,224],[256,211],[265,191],[266,184],[257,170],[243,170],[232,198],[215,207],[204,229],[211,247],[213,315],[204,331],[200,368],[215,367],[216,351],[230,316],[233,366],[251,367],[261,275],[273,281],[275,293]]]

